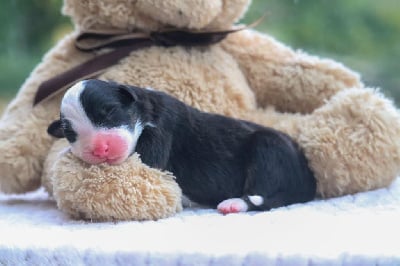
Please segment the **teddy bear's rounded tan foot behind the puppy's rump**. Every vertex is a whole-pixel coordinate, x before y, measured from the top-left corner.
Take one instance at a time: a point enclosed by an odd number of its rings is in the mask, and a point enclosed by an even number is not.
[[[377,90],[339,92],[308,117],[298,141],[323,197],[385,187],[400,174],[400,113]]]

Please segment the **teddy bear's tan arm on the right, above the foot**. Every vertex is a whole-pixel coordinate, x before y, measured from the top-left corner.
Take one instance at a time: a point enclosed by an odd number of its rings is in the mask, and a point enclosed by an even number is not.
[[[362,86],[359,75],[342,64],[252,30],[231,34],[222,46],[237,60],[261,107],[308,113],[336,92]]]

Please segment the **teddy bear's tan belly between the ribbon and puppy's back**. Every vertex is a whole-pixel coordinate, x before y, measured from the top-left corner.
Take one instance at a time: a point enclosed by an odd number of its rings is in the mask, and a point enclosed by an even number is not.
[[[230,116],[254,110],[237,62],[219,46],[207,50],[151,47],[131,54],[100,78],[153,87],[196,108]]]

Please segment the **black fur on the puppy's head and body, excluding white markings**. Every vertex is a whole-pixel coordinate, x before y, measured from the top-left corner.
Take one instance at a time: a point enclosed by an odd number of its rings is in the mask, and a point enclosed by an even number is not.
[[[133,129],[138,119],[150,125],[135,151],[145,164],[172,172],[197,203],[242,198],[250,210],[268,210],[315,196],[304,154],[282,132],[201,112],[162,92],[99,80],[86,81],[80,100],[95,125]],[[253,205],[251,195],[264,203]]]

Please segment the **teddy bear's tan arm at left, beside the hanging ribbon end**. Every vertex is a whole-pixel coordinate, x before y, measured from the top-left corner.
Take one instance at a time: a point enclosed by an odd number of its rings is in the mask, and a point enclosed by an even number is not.
[[[41,82],[79,64],[91,55],[78,52],[67,36],[43,59],[6,108],[0,120],[0,191],[21,193],[40,185],[43,161],[52,139],[47,126],[59,113],[60,97],[33,107]]]

